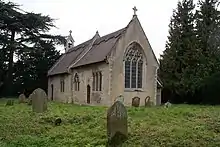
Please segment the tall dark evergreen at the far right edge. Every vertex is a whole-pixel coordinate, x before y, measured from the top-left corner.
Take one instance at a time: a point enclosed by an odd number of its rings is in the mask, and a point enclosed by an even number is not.
[[[202,103],[220,103],[217,81],[220,73],[220,13],[219,0],[199,1],[196,12],[196,34],[199,54],[197,72],[198,95],[195,96]],[[212,92],[211,92],[212,91]]]

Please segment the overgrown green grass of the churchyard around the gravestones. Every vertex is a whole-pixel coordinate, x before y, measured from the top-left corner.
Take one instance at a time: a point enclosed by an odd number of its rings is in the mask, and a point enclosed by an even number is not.
[[[104,147],[106,107],[48,104],[43,114],[31,106],[5,106],[0,99],[0,147]],[[123,146],[220,146],[220,106],[172,105],[127,108],[129,139]],[[61,117],[61,126],[52,121]]]

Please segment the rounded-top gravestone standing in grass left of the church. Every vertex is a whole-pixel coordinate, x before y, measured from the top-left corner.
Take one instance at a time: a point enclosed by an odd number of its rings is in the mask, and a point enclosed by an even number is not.
[[[37,113],[42,113],[47,110],[47,94],[44,90],[37,88],[30,95],[32,100],[32,110]]]

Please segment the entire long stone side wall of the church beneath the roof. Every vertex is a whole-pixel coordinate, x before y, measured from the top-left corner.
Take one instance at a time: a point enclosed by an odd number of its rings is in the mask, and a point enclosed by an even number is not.
[[[93,91],[93,72],[101,71],[102,73],[102,90]],[[75,91],[74,75],[79,76],[79,91]],[[65,79],[65,91],[60,91],[60,79]],[[51,99],[51,84],[54,87],[53,99],[65,103],[87,104],[87,86],[90,85],[91,105],[110,105],[109,101],[109,66],[106,63],[97,63],[80,67],[71,71],[65,76],[54,76],[48,80],[48,97]]]

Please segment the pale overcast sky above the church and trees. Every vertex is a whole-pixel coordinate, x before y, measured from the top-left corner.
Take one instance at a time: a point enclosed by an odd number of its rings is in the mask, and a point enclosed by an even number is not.
[[[168,25],[178,0],[10,0],[26,11],[42,13],[57,19],[51,33],[68,35],[72,30],[75,45],[95,35],[101,36],[125,27],[137,16],[157,56],[162,53]]]

